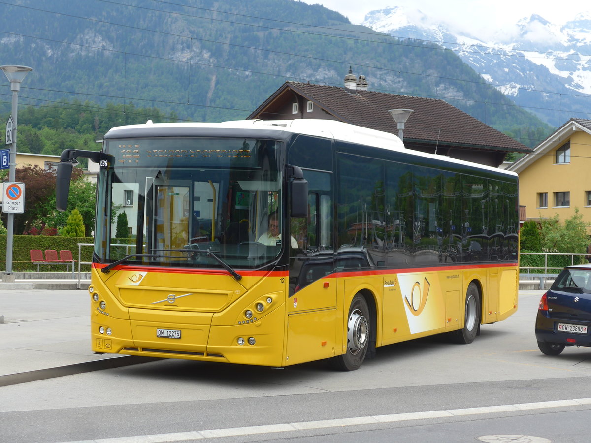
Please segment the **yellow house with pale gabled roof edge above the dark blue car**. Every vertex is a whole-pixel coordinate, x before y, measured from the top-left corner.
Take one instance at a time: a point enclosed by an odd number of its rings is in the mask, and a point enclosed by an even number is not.
[[[519,174],[519,204],[527,219],[558,214],[564,221],[576,208],[591,225],[591,120],[570,119],[507,169]]]

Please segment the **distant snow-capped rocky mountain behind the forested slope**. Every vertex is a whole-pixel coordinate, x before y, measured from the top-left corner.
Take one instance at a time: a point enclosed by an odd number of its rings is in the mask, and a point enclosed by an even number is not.
[[[479,37],[417,9],[369,12],[363,25],[394,37],[439,43],[482,78],[552,126],[591,118],[591,15],[564,24],[522,18],[492,37]]]

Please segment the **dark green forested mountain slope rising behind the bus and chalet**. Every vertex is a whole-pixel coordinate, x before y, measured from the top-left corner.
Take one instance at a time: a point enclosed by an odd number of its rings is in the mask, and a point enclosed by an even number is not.
[[[529,146],[539,138],[533,131],[547,131],[452,51],[351,25],[319,5],[9,1],[0,15],[3,60],[34,69],[20,106],[75,98],[133,102],[186,120],[239,119],[286,80],[342,86],[353,66],[370,89],[444,99]]]

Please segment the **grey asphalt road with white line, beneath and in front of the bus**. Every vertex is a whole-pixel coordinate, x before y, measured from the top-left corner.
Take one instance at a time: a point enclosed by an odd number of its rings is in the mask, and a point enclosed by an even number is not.
[[[540,353],[540,295],[470,345],[382,347],[353,372],[162,360],[0,387],[0,442],[588,441],[591,348]]]

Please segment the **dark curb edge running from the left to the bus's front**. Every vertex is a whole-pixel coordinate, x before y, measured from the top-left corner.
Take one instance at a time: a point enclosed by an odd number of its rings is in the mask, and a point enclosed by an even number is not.
[[[157,357],[116,356],[108,359],[85,361],[83,363],[68,364],[67,366],[50,367],[35,371],[6,374],[0,376],[0,387],[18,385],[20,383],[37,382],[38,380],[53,379],[64,375],[81,374],[101,369],[113,369],[115,367],[131,366],[132,364],[149,363],[162,360]]]

